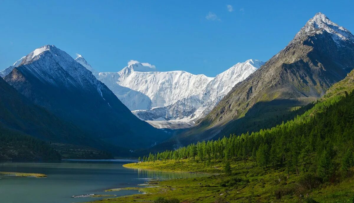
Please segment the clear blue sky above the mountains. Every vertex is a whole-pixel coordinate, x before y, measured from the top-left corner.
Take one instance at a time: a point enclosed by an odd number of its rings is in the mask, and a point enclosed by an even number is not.
[[[213,77],[267,61],[316,12],[354,32],[354,1],[333,2],[1,0],[0,69],[53,44],[101,72],[137,60]]]

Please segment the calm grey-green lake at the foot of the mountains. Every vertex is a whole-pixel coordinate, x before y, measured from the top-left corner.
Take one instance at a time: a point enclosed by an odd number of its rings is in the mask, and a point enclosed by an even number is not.
[[[71,203],[101,198],[71,198],[82,194],[124,196],[137,190],[104,192],[111,188],[137,187],[150,179],[203,176],[122,167],[129,160],[63,160],[60,163],[0,162],[0,171],[43,173],[45,178],[0,175],[0,199],[4,203]]]

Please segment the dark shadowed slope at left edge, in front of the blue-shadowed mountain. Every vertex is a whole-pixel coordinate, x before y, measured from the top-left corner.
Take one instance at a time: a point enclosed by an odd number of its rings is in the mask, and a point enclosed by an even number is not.
[[[107,146],[35,105],[2,78],[0,95],[0,160],[59,160],[59,153],[49,142],[63,143],[63,147]]]

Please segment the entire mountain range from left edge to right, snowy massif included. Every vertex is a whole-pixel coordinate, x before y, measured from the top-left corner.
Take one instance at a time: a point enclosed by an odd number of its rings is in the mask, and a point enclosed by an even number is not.
[[[112,153],[173,148],[271,128],[353,68],[354,35],[322,13],[266,63],[247,60],[214,78],[136,61],[98,72],[45,45],[0,72],[0,128]],[[186,129],[171,137],[158,128]]]

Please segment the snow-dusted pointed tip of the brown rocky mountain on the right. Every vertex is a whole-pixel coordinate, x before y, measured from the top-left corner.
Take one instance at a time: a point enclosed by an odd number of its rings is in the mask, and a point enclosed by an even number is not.
[[[354,36],[349,30],[332,22],[327,16],[320,12],[316,13],[313,18],[307,21],[305,26],[295,35],[293,41],[300,39],[304,35],[312,36],[323,32],[329,33],[339,46],[341,41],[350,41],[354,43]]]

